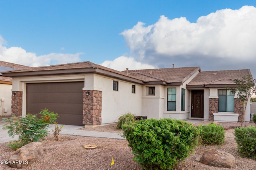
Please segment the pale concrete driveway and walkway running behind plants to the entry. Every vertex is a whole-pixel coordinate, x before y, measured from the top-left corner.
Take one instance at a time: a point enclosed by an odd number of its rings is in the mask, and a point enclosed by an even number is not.
[[[201,120],[186,119],[186,121],[195,124]],[[9,142],[9,141],[18,139],[18,137],[14,137],[14,138],[9,137],[8,133],[7,133],[8,130],[2,129],[3,125],[4,124],[2,124],[2,123],[0,124],[0,143]],[[61,125],[58,125],[58,126],[61,126]],[[83,128],[83,127],[84,126],[64,125],[60,134],[87,136],[87,137],[103,137],[103,138],[113,138],[113,139],[125,139],[124,137],[121,137],[121,135],[118,133],[79,130],[80,128]],[[54,129],[54,125],[50,125],[50,128],[48,129],[50,134],[53,133],[52,129]]]

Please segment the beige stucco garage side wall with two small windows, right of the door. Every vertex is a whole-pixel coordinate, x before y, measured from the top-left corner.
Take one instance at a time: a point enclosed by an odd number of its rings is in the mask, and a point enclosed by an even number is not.
[[[113,80],[118,81],[118,91],[113,90]],[[132,93],[132,85],[135,85],[135,94]],[[102,124],[117,122],[118,117],[127,112],[141,115],[142,86],[139,84],[107,76],[86,75],[83,90],[102,91]]]

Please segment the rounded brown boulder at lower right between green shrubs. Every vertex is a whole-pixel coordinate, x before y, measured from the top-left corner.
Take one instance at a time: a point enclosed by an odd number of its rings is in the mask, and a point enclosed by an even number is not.
[[[236,160],[234,156],[228,152],[220,150],[209,150],[204,152],[200,158],[202,164],[223,167],[223,168],[232,168],[236,167]]]

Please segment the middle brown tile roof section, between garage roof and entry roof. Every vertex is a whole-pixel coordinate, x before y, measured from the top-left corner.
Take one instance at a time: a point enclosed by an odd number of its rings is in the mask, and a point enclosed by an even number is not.
[[[144,70],[126,70],[123,72],[135,76],[146,81],[163,81],[163,82],[180,82],[184,83],[196,71],[199,72],[200,67],[180,67],[180,68],[155,68]]]

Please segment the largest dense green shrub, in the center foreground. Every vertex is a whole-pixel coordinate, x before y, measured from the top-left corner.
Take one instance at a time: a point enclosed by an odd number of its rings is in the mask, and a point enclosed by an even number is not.
[[[194,150],[199,136],[192,124],[167,118],[136,121],[122,129],[134,160],[151,170],[172,169]]]

